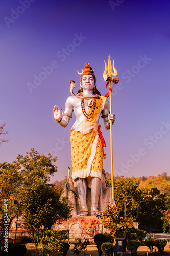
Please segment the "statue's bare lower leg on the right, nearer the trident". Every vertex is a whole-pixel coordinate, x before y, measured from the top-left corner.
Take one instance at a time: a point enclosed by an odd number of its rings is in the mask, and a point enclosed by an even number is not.
[[[101,192],[102,182],[97,177],[91,178],[91,215],[98,211],[98,201]]]

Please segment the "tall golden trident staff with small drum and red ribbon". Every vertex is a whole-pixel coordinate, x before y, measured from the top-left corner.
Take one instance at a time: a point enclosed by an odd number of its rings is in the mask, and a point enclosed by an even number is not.
[[[105,61],[104,61],[105,62]],[[107,74],[106,71],[108,70]],[[106,65],[105,62],[105,71],[103,73],[103,78],[105,81],[108,81],[106,84],[109,84],[109,87],[107,87],[109,89],[109,102],[110,102],[110,114],[112,114],[112,86],[111,83],[118,83],[119,79],[118,78],[114,78],[112,76],[116,76],[117,75],[117,70],[114,67],[114,59],[113,59],[113,71],[112,72],[112,65],[111,65],[111,59],[110,59],[110,53],[109,53],[109,57],[108,57],[108,65]],[[112,120],[110,120],[110,162],[111,162],[111,185],[112,185],[112,198],[111,198],[111,204],[113,204],[114,206],[114,177],[113,177],[113,143],[112,143]]]

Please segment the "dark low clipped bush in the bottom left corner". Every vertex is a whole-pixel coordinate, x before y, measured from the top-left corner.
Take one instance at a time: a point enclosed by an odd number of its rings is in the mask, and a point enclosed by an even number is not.
[[[8,252],[4,251],[2,255],[5,256],[23,256],[27,252],[24,244],[8,244]]]

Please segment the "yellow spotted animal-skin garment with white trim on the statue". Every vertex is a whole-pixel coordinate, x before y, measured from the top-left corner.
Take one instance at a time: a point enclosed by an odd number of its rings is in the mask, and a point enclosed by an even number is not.
[[[76,122],[71,129],[72,178],[98,177],[102,179],[103,151],[98,133],[98,119],[106,98],[97,100],[93,117]]]

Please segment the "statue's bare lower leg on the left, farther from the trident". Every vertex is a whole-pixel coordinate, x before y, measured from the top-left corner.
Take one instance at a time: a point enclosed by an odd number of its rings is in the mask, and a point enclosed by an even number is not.
[[[82,179],[82,178],[77,178],[76,179],[76,184],[77,184],[77,190],[79,193],[79,198],[81,202],[81,215],[87,215],[88,209],[87,209],[87,203],[86,203],[86,197],[87,197],[87,180]]]

